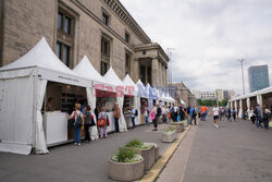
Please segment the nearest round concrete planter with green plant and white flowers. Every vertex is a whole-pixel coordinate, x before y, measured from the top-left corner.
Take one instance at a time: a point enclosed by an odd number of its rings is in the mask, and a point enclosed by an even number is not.
[[[135,181],[144,175],[144,158],[134,148],[120,148],[108,162],[108,175],[115,181]]]

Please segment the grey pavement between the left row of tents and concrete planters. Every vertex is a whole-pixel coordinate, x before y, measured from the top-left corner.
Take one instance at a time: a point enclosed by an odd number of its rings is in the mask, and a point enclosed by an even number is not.
[[[161,142],[161,132],[168,124],[138,126],[127,133],[113,133],[107,139],[98,139],[82,146],[73,144],[50,148],[48,155],[14,155],[0,153],[1,182],[107,182],[107,161],[119,148],[137,138],[153,142],[160,147],[160,155],[171,146]]]

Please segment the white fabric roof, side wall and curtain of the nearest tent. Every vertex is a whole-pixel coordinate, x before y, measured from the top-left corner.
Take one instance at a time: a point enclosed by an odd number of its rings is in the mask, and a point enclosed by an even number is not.
[[[22,58],[0,68],[1,151],[48,153],[41,117],[48,81],[90,86],[59,60],[44,37]]]

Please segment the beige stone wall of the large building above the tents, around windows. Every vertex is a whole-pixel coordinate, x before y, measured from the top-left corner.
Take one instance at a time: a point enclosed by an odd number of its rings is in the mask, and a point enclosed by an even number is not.
[[[54,50],[57,43],[58,1],[47,0],[9,0],[5,1],[4,52],[3,64],[15,61],[26,53],[45,36]],[[111,65],[116,74],[125,77],[125,52],[134,53],[131,45],[143,44],[133,31],[114,12],[99,0],[61,0],[65,7],[78,14],[75,24],[75,46],[73,65],[86,54],[97,71],[100,72],[101,35],[111,37]],[[102,10],[110,14],[110,25],[101,22]],[[125,31],[131,34],[131,45],[125,43]],[[138,77],[134,69],[133,77]]]

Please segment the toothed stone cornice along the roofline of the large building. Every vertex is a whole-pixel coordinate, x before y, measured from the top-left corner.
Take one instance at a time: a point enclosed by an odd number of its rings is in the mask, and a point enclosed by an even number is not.
[[[134,33],[144,44],[151,43],[148,35],[141,29],[129,12],[124,8],[120,0],[102,0]]]

